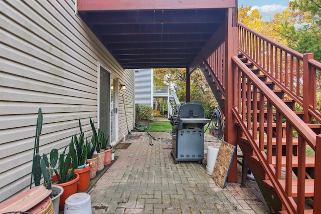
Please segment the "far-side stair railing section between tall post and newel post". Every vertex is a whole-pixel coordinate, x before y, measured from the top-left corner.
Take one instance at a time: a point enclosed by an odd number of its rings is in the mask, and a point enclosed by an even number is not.
[[[239,48],[251,61],[284,84],[296,96],[303,96],[303,55],[239,23]],[[296,81],[294,81],[296,80]]]

